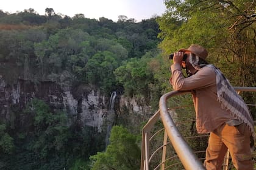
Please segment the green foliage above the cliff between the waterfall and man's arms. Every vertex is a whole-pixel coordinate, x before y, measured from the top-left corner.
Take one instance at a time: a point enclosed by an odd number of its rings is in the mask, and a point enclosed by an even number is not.
[[[115,70],[116,80],[124,87],[124,94],[144,97],[152,110],[158,108],[160,96],[170,90],[169,63],[159,52],[148,52],[142,58],[131,58]]]

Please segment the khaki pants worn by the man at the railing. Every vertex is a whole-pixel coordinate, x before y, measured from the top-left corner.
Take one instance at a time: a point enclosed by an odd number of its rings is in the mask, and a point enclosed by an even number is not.
[[[233,165],[238,170],[252,170],[250,148],[251,131],[244,123],[228,126],[226,123],[210,133],[204,166],[207,170],[221,169],[229,148]]]

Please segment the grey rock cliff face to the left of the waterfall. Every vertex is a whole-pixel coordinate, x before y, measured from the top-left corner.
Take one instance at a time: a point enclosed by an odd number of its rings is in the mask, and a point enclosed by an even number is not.
[[[83,124],[101,129],[104,115],[107,112],[105,97],[98,91],[90,89],[74,97],[69,87],[61,87],[53,81],[32,83],[18,80],[9,85],[0,77],[0,118],[9,121],[12,107],[23,110],[32,98],[39,98],[53,110],[64,110],[69,117],[79,117]]]

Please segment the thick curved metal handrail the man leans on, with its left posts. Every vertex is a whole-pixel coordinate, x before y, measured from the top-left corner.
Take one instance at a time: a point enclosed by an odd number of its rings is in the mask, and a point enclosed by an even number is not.
[[[237,92],[256,92],[256,87],[234,87]],[[149,155],[149,145],[150,140],[153,135],[151,135],[152,128],[155,123],[161,118],[163,126],[165,127],[165,136],[167,134],[172,147],[176,151],[177,156],[179,157],[182,165],[185,169],[205,169],[202,165],[201,160],[197,158],[194,154],[194,151],[188,145],[187,141],[182,137],[179,130],[176,127],[176,124],[171,118],[169,111],[166,106],[166,101],[168,98],[175,97],[177,95],[189,94],[190,91],[172,91],[168,92],[160,98],[159,101],[159,110],[149,119],[148,123],[143,127],[143,141],[141,144],[141,170],[149,170],[149,163],[152,155]],[[166,152],[166,139],[164,139],[162,154],[162,169],[165,169],[165,152]],[[158,166],[160,166],[158,165]]]

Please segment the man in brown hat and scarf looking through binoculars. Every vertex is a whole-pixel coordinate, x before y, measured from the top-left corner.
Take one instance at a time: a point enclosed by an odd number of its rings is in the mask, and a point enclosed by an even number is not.
[[[174,90],[191,90],[197,132],[210,132],[205,168],[221,169],[229,149],[236,169],[253,169],[252,116],[221,71],[205,61],[207,55],[207,50],[196,44],[174,53],[170,83]],[[183,77],[182,68],[186,69],[187,78]]]

